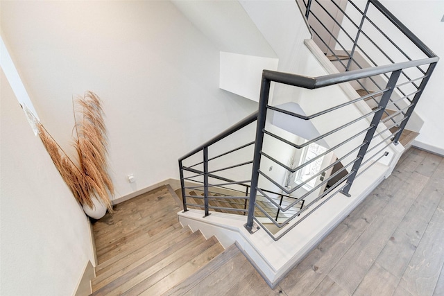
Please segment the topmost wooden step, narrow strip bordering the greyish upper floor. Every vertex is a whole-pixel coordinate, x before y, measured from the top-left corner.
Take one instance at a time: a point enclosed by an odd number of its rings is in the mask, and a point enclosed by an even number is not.
[[[167,292],[163,293],[162,296],[165,295],[184,295],[194,286],[198,285],[200,281],[212,275],[214,271],[219,269],[222,265],[230,261],[234,256],[239,254],[239,248],[236,245],[231,245],[225,251],[223,251],[219,256],[216,256],[210,263],[205,265],[205,267],[200,268],[193,275],[182,281],[180,284],[177,284]],[[158,294],[160,295],[160,294]]]

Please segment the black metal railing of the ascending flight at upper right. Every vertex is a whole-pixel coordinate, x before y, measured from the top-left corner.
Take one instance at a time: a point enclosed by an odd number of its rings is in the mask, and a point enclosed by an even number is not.
[[[334,60],[339,71],[436,57],[433,51],[377,0],[302,2],[316,44]],[[400,76],[403,83],[396,87],[388,110],[400,111],[400,116],[410,117],[433,70],[434,63],[403,69]],[[375,90],[382,89],[387,80],[386,73],[379,77],[357,80],[355,89],[372,94]],[[380,98],[370,98],[374,105],[379,103]],[[404,110],[407,105],[411,107]],[[386,114],[389,115],[389,112]],[[401,130],[404,130],[406,124],[407,121],[402,121]],[[395,143],[398,143],[401,133],[395,136]]]

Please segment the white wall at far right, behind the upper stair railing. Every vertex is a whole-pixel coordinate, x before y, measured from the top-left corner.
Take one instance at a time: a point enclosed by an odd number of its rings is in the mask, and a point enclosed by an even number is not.
[[[429,46],[432,51],[438,57],[444,58],[444,42],[442,39],[442,35],[444,32],[444,22],[441,21],[444,13],[444,1],[441,0],[427,0],[427,1],[414,1],[414,0],[382,0],[381,1],[388,10],[390,10],[395,17],[400,19],[400,21],[409,28],[410,31],[413,32],[417,37],[419,37],[422,42],[424,42],[427,46]],[[365,6],[366,1],[360,0],[357,1],[357,4],[360,7]],[[371,6],[370,6],[371,7]],[[348,6],[348,11],[355,11],[355,8],[352,6]],[[375,8],[370,10],[371,12],[375,12]],[[411,45],[411,42],[407,41],[407,38],[403,35],[396,35],[393,33],[395,30],[393,25],[388,24],[388,21],[382,17],[379,12],[377,14],[372,15],[373,21],[377,22],[377,24],[382,24],[382,28],[386,31],[385,33],[392,38],[406,53],[413,59],[415,58],[426,58],[423,53],[419,53],[418,49],[415,46]],[[345,21],[345,19],[344,19]],[[347,26],[347,21],[343,22],[343,26]],[[371,34],[370,26],[364,27],[367,30],[367,33]],[[375,30],[373,30],[375,31]],[[378,35],[372,36],[373,40],[376,41],[377,44],[382,42],[387,46],[388,41],[384,40],[379,33]],[[339,35],[341,38],[341,35]],[[377,40],[380,38],[380,40]],[[395,39],[396,38],[396,39]],[[364,41],[365,38],[360,37],[361,41]],[[367,42],[369,43],[369,42]],[[403,47],[404,44],[406,47]],[[393,46],[388,45],[393,49]],[[385,47],[383,47],[387,51]],[[394,50],[394,49],[393,49]],[[377,50],[370,51],[370,53],[377,53]],[[397,51],[393,51],[391,55],[395,55],[395,61],[405,61],[401,53],[397,53]],[[379,54],[379,57],[376,55],[373,57],[379,64],[387,64],[389,63],[386,58],[382,57]],[[398,59],[398,60],[396,60]],[[416,73],[412,75],[413,70],[409,69],[409,75],[413,77],[419,77],[420,74]],[[402,77],[401,77],[402,79]],[[444,80],[444,64],[441,60],[438,62],[436,69],[432,75],[432,78],[429,80],[425,92],[423,92],[418,105],[416,106],[415,112],[424,120],[424,125],[420,130],[420,135],[413,143],[415,146],[419,146],[421,148],[425,148],[427,150],[432,150],[435,153],[440,153],[444,155],[444,119],[441,116],[441,110],[444,109],[444,94],[441,87],[442,81]],[[409,94],[409,91],[406,91]],[[416,121],[418,119],[415,119]],[[420,124],[420,121],[417,121]]]

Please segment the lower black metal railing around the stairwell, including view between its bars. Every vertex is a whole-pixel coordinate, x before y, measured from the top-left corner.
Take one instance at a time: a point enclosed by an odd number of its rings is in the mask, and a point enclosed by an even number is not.
[[[310,5],[319,2],[309,2],[306,15],[311,17],[315,14]],[[394,22],[425,58],[409,55],[407,60],[365,69],[347,62],[346,71],[315,78],[264,70],[258,111],[179,159],[184,211],[246,215],[248,231],[253,233],[257,223],[278,240],[337,193],[350,196],[357,177],[389,163],[391,146],[409,121],[438,57],[378,1],[368,1],[360,10],[364,17],[354,43],[345,51],[350,61],[361,51],[359,35],[368,35],[364,24],[369,21],[370,4]],[[411,79],[412,69],[422,70],[421,76]],[[377,89],[366,89],[354,99],[345,97],[339,87],[344,82],[373,81]],[[415,90],[403,94],[403,87],[412,83]],[[275,89],[291,88],[280,93],[297,93],[298,99],[269,103],[272,84]],[[377,98],[373,109],[363,108],[368,98]],[[395,111],[386,112],[393,106]],[[310,110],[309,115],[300,110]]]

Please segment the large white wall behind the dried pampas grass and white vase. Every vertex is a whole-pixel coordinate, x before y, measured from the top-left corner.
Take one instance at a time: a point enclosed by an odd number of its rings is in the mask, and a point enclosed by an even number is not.
[[[2,1],[1,28],[65,150],[71,97],[103,99],[117,198],[178,178],[179,157],[257,108],[219,89],[220,49],[169,1]]]

